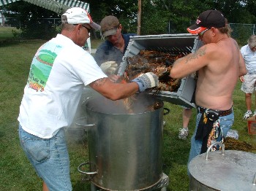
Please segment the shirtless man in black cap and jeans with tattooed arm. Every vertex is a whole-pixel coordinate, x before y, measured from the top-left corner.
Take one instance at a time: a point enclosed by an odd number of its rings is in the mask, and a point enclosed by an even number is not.
[[[189,162],[206,152],[213,142],[222,141],[233,125],[233,90],[238,77],[247,71],[238,44],[227,35],[229,29],[221,12],[202,12],[195,25],[187,30],[197,34],[204,45],[195,53],[178,59],[170,71],[173,78],[198,71],[195,93],[198,113]]]

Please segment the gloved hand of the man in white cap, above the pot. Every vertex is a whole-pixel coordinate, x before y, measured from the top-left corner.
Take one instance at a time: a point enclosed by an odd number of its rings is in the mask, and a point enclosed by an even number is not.
[[[159,85],[159,79],[153,72],[147,72],[146,74],[140,74],[139,77],[132,79],[131,82],[136,82],[139,85],[140,92],[145,91],[147,88],[156,87]]]

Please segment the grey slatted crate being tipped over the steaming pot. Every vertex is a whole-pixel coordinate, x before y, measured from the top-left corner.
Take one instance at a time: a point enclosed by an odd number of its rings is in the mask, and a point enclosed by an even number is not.
[[[197,36],[192,34],[161,34],[146,36],[131,36],[127,51],[124,53],[118,74],[124,74],[127,67],[127,57],[138,55],[140,50],[159,50],[172,54],[187,55],[200,47]],[[162,91],[157,94],[162,101],[186,107],[195,107],[195,74],[181,79],[177,92]],[[151,92],[152,93],[152,92]]]

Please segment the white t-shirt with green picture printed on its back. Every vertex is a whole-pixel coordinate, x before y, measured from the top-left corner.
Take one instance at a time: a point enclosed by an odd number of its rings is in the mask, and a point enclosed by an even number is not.
[[[34,136],[53,137],[72,124],[83,87],[104,77],[88,52],[58,34],[34,55],[20,104],[20,125]]]

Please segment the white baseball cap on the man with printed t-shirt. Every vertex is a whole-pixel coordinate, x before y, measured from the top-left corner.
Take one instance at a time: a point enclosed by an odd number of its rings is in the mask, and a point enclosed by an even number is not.
[[[67,11],[61,15],[61,22],[73,25],[87,23],[89,26],[91,26],[91,28],[98,31],[100,30],[100,26],[91,20],[91,15],[89,12],[80,7],[72,7],[67,9]]]

